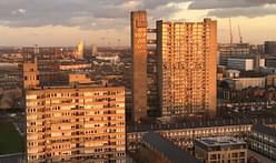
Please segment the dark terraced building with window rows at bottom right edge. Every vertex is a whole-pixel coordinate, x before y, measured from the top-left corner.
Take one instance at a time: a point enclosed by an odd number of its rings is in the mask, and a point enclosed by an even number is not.
[[[249,149],[276,161],[276,130],[262,124],[253,125],[248,137]]]

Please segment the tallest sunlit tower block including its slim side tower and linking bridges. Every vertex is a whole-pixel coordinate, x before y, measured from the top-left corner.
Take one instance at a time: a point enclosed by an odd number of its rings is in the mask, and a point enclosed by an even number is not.
[[[156,39],[147,38],[155,33]],[[149,65],[155,44],[157,55],[157,100],[161,118],[216,114],[217,22],[157,21],[148,29],[147,12],[131,12],[134,120],[147,116],[150,94]],[[152,98],[152,96],[151,96]]]

